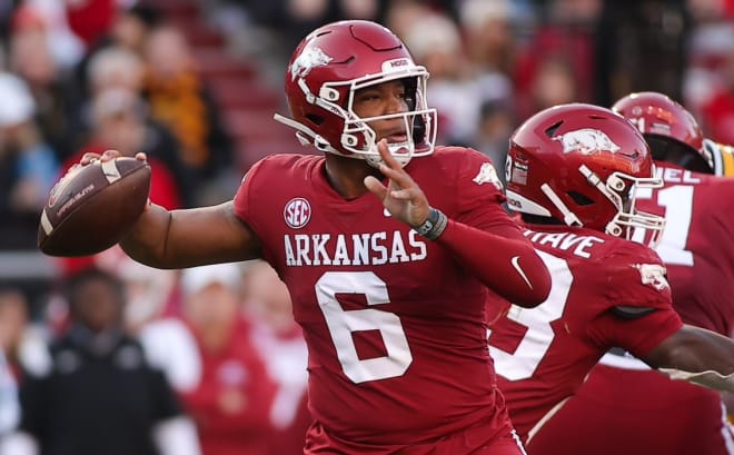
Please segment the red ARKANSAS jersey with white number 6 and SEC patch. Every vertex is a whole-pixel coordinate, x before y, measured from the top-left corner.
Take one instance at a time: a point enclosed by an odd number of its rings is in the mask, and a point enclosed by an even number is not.
[[[449,218],[510,226],[500,188],[478,178],[487,164],[475,150],[438,147],[406,169]],[[235,207],[290,291],[320,428],[374,446],[478,424],[509,432],[486,348],[487,288],[440,245],[371,194],[345,200],[327,181],[324,157],[265,158]]]

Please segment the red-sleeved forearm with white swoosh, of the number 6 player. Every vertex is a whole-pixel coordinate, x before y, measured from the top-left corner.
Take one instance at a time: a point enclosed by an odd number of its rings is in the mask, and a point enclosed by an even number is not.
[[[534,307],[550,291],[548,269],[519,233],[506,237],[449,220],[436,241],[512,304]]]

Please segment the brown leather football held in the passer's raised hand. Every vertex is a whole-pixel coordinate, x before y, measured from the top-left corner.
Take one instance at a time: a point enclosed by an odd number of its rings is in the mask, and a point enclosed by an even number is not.
[[[49,256],[89,256],[117,244],[140,217],[150,192],[150,166],[119,157],[71,168],[51,189],[38,226]]]

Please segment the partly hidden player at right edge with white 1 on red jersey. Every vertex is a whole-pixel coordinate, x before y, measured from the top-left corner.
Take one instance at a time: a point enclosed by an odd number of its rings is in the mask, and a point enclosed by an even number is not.
[[[632,93],[613,109],[643,133],[656,175],[665,182],[652,192],[639,192],[637,205],[665,217],[656,250],[667,268],[674,308],[683,322],[730,336],[734,179],[710,175],[721,160],[716,165],[715,155],[703,147],[703,133],[691,113],[667,96]],[[623,437],[609,438],[609,434]],[[734,433],[716,390],[668,380],[642,362],[613,353],[604,356],[532,446],[539,455],[732,455]]]

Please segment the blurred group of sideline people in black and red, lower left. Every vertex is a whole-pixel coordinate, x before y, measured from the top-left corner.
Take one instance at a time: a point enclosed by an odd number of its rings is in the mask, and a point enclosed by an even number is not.
[[[0,289],[20,397],[0,454],[300,453],[306,346],[270,266],[105,256],[60,284],[44,322]]]

